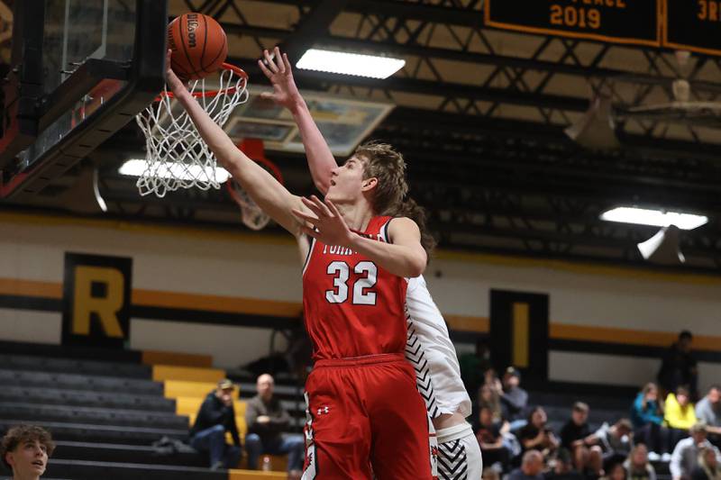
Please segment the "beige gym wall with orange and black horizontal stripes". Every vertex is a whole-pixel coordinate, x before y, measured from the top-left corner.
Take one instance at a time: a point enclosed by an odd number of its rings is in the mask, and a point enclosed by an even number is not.
[[[60,342],[68,252],[132,258],[131,349],[235,367],[269,353],[272,328],[298,325],[289,236],[3,213],[0,340]],[[682,329],[701,384],[721,380],[721,278],[444,251],[425,277],[459,352],[488,335],[491,290],[547,294],[551,380],[641,385]]]

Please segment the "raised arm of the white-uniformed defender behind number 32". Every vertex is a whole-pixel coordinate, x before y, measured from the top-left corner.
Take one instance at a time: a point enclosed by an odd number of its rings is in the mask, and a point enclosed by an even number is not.
[[[260,69],[273,86],[273,93],[264,93],[260,96],[286,107],[293,115],[306,149],[311,177],[315,187],[325,195],[331,186],[331,171],[338,165],[323,134],[318,130],[306,101],[298,92],[287,55],[285,53],[281,55],[278,47],[275,48],[274,54],[275,58],[271,59],[269,51],[264,50],[263,56],[266,62],[258,61]]]

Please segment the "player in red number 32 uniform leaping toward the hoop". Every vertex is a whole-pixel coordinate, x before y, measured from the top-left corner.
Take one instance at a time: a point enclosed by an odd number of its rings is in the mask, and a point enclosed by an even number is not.
[[[266,59],[272,70],[286,68]],[[306,382],[303,478],[430,479],[425,406],[403,353],[405,277],[423,273],[426,253],[415,222],[388,224],[377,206],[406,193],[399,158],[351,157],[333,171],[324,201],[291,195],[237,149],[166,61],[169,88],[215,157],[297,238],[316,360]]]

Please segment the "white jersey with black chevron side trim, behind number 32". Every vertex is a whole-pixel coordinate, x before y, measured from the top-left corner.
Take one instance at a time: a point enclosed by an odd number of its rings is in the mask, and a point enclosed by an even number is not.
[[[470,397],[461,381],[456,349],[423,276],[408,280],[406,322],[406,359],[415,368],[415,384],[428,414],[432,419],[455,412],[468,417]]]

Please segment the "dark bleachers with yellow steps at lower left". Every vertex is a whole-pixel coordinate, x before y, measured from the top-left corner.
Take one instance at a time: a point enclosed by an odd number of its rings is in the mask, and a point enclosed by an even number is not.
[[[279,472],[211,472],[197,453],[161,454],[151,444],[163,437],[187,441],[189,424],[224,370],[212,359],[168,352],[114,352],[63,349],[2,342],[0,354],[0,434],[32,423],[52,432],[58,447],[43,478],[143,480],[285,478],[285,458],[273,457]],[[32,352],[32,355],[28,354]],[[68,353],[68,358],[64,355]],[[153,362],[166,365],[153,365]],[[247,378],[245,379],[247,380]],[[235,408],[245,431],[245,398]],[[297,397],[278,385],[279,392]],[[298,401],[284,400],[296,406]],[[302,394],[300,395],[302,402]],[[294,415],[302,425],[297,408]]]

